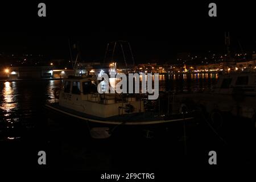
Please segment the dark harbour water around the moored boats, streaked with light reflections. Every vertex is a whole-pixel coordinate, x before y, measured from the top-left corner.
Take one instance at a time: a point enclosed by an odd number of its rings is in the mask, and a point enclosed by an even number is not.
[[[177,92],[212,90],[216,75],[161,76],[159,89]],[[174,123],[164,139],[93,140],[76,121],[49,121],[44,105],[54,102],[58,80],[0,82],[0,168],[3,169],[211,169],[208,152],[218,152],[220,168],[255,167],[254,138],[229,127],[216,135],[200,121],[187,123],[187,155],[183,123]],[[239,120],[239,119],[238,119]],[[227,119],[228,121],[228,119]],[[236,120],[233,120],[236,123]],[[237,134],[236,132],[239,132]],[[132,132],[131,132],[132,134]],[[221,134],[220,134],[221,135]],[[226,143],[227,142],[227,143]],[[38,151],[47,165],[38,165]],[[232,153],[232,155],[229,155]],[[234,161],[234,156],[237,156]]]

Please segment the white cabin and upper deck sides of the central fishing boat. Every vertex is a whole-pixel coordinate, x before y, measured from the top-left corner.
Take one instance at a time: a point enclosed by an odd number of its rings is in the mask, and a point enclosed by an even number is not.
[[[96,117],[112,117],[144,111],[143,101],[129,94],[97,91],[94,77],[69,77],[63,80],[59,105]]]

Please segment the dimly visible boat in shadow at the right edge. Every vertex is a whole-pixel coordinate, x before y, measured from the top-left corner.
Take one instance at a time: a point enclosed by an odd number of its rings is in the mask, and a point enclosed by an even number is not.
[[[179,100],[189,100],[193,106],[201,107],[214,125],[222,125],[224,116],[230,114],[243,118],[241,121],[247,119],[249,125],[256,127],[256,72],[220,74],[213,91],[179,94],[176,102]]]

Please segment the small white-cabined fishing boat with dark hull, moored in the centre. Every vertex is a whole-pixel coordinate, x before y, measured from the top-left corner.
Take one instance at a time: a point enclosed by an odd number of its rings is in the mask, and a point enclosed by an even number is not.
[[[172,114],[159,114],[154,108],[147,110],[144,94],[100,94],[98,84],[100,82],[90,76],[65,78],[61,88],[55,90],[57,102],[46,107],[54,112],[53,116],[56,117],[57,113],[57,118],[61,115],[86,122],[93,138],[108,138],[121,128],[133,128],[130,133],[135,130],[166,130],[171,122],[193,119],[193,113],[182,109]]]

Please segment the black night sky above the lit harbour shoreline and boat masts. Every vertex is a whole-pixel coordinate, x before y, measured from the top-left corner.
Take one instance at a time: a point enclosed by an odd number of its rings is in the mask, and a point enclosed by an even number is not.
[[[69,59],[69,39],[79,42],[82,60],[93,61],[104,58],[108,42],[127,40],[136,63],[167,61],[179,52],[225,51],[225,31],[232,51],[256,50],[251,2],[215,1],[213,18],[210,1],[44,2],[46,18],[37,15],[39,2],[1,3],[0,52]]]

